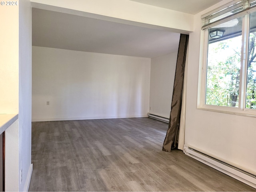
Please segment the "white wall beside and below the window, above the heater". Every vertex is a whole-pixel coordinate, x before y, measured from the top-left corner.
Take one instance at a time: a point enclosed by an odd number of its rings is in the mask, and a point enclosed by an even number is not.
[[[195,29],[189,37],[185,144],[256,174],[256,118],[196,109],[202,56],[200,16],[195,16]]]

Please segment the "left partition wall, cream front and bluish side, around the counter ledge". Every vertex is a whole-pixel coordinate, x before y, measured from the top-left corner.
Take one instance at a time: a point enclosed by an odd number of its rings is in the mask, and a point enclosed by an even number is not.
[[[20,117],[14,128],[6,130],[5,187],[26,191],[32,173],[30,0],[0,6],[0,13],[0,113],[19,113]]]

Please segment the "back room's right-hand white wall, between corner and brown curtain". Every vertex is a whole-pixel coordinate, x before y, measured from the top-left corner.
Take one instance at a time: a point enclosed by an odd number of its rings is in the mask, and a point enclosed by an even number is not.
[[[150,114],[170,118],[177,55],[174,52],[151,59]]]

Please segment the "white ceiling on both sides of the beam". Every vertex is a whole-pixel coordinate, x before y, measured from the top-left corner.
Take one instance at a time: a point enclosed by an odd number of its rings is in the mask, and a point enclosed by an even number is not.
[[[194,14],[221,0],[133,1]],[[32,8],[33,46],[154,58],[177,51],[179,36],[165,30]]]

